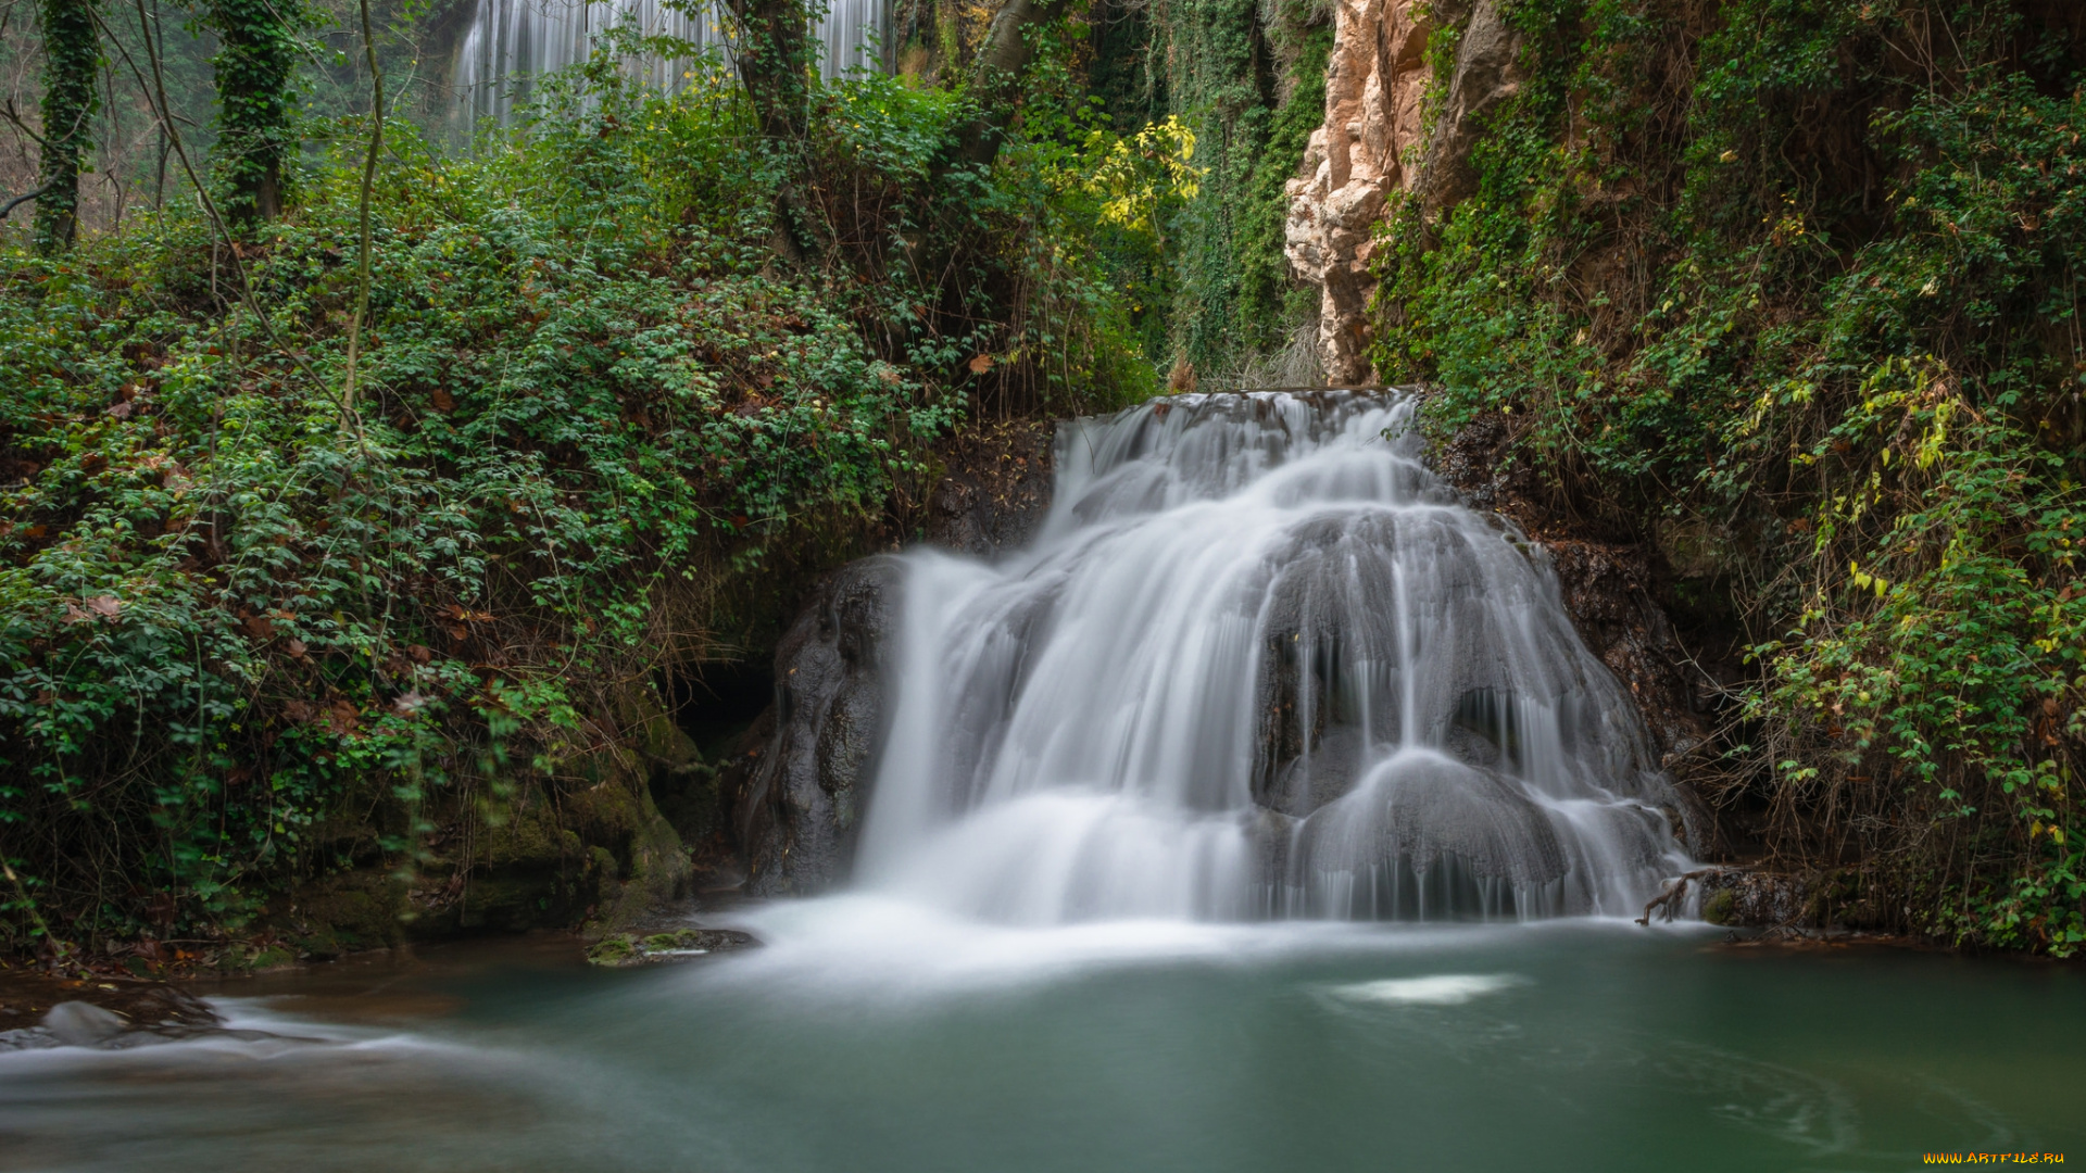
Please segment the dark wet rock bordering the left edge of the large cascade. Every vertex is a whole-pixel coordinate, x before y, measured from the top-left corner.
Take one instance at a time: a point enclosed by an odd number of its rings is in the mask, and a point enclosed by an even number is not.
[[[741,764],[736,801],[751,895],[847,875],[884,728],[878,668],[899,578],[891,557],[843,566],[776,647],[774,733]]]

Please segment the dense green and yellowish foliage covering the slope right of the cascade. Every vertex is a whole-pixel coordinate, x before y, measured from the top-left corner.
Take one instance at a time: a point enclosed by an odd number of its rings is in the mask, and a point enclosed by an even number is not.
[[[2080,15],[1506,10],[1527,81],[1477,196],[1400,211],[1379,369],[1444,428],[1506,413],[1736,605],[1763,674],[1715,797],[1765,804],[1781,864],[1857,920],[2076,950]]]

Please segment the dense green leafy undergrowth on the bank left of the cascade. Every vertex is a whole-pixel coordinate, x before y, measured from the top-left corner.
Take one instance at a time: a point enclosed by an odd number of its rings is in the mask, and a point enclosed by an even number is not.
[[[957,90],[809,111],[784,154],[718,63],[665,96],[605,48],[469,154],[394,123],[353,401],[363,119],[244,240],[171,205],[0,255],[6,931],[238,925],[588,785],[632,685],[882,541],[960,415],[1151,388],[1091,244],[1116,138],[964,167]]]

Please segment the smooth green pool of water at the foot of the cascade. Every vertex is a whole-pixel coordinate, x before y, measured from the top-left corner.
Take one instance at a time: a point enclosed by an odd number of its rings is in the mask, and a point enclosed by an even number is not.
[[[1598,923],[905,916],[786,906],[755,918],[768,950],[665,971],[451,948],[227,985],[242,1037],[0,1056],[0,1169],[1867,1171],[2086,1152],[2086,979],[2065,966]]]

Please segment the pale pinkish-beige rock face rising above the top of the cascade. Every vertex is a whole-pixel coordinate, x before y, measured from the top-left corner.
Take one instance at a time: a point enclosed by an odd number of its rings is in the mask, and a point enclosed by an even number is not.
[[[1318,361],[1335,384],[1373,382],[1364,309],[1371,238],[1385,200],[1410,190],[1423,142],[1427,19],[1421,0],[1339,0],[1325,125],[1289,179],[1289,263],[1320,288]]]

